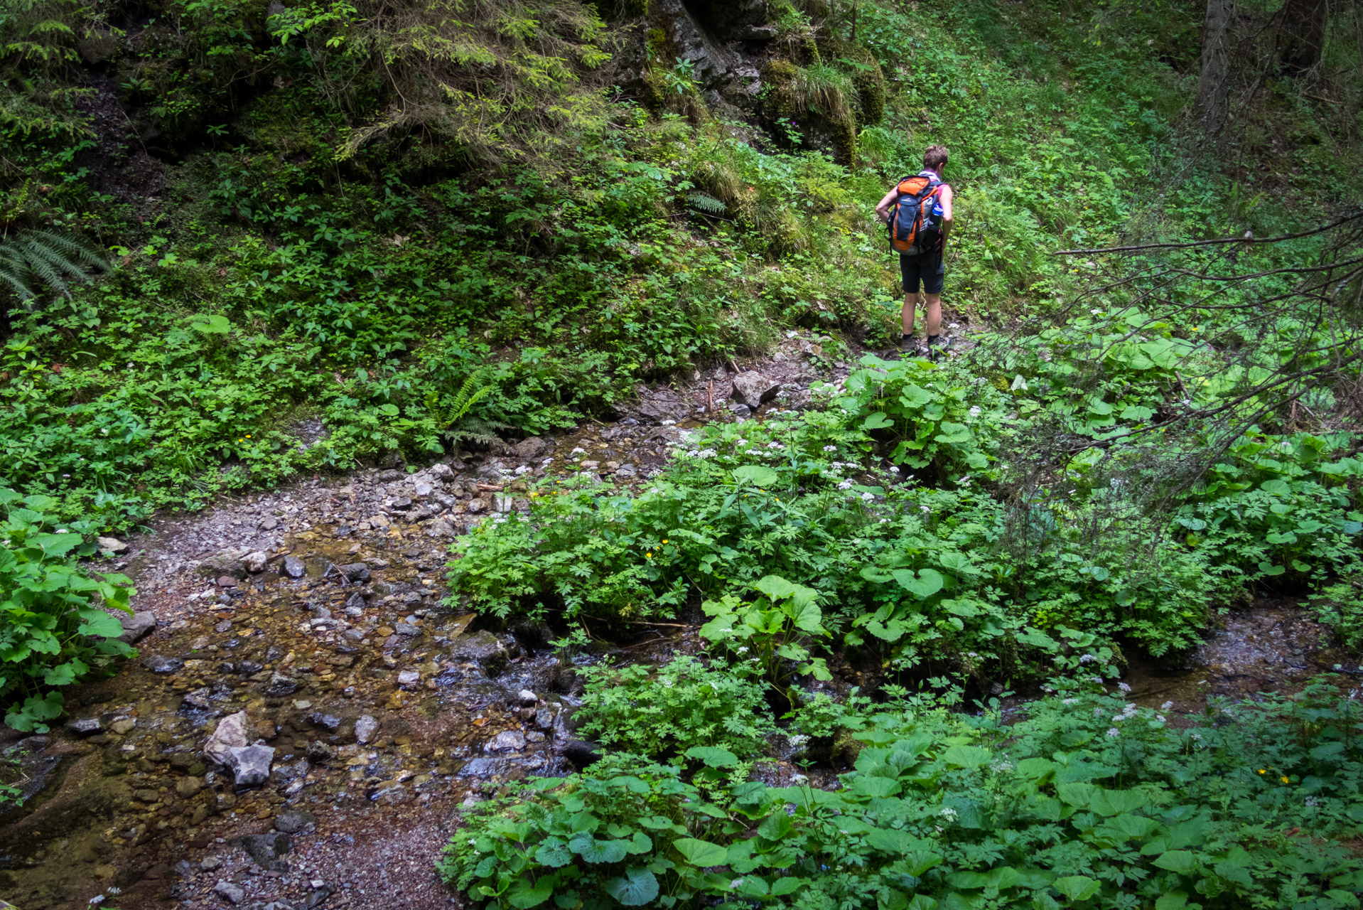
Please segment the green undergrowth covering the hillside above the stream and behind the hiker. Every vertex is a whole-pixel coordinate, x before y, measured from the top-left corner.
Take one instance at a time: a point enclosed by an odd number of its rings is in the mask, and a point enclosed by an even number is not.
[[[1063,4],[866,4],[855,40],[836,14],[782,5],[781,34],[804,41],[791,53],[822,55],[804,61],[831,80],[818,97],[863,85],[863,57],[885,74],[883,112],[857,102],[844,164],[814,150],[816,102],[810,123],[755,142],[698,113],[684,72],[665,75],[688,116],[607,101],[616,26],[575,4],[432,26],[455,30],[446,50],[470,48],[458,60],[372,34],[387,19],[368,7],[266,20],[251,4],[168,0],[132,53],[117,10],[49,5],[0,23],[3,220],[97,236],[116,269],[70,299],[10,306],[0,471],[109,527],[303,469],[566,427],[639,379],[758,352],[780,326],[887,341],[895,276],[870,205],[928,142],[951,146],[958,188],[949,304],[998,318],[1088,281],[1047,255],[1056,246],[1272,231],[1352,180],[1329,139],[1292,153],[1293,211],[1202,165],[1176,192],[1148,192],[1186,101],[1179,67],[1197,56],[1189,4],[1107,10],[1097,33]],[[108,192],[131,150],[94,151],[113,139],[80,106],[79,41],[113,55],[116,101],[170,146],[155,205]],[[477,94],[462,67],[492,60],[515,63],[500,94]],[[282,87],[245,91],[243,67]],[[457,128],[414,102],[436,76],[500,126]],[[397,120],[380,115],[399,97]],[[399,138],[417,124],[438,138]],[[470,378],[492,390],[458,426]]]

